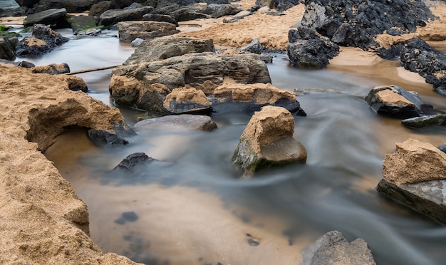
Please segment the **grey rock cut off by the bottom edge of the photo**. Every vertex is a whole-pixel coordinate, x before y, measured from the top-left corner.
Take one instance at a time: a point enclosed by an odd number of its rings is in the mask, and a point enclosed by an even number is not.
[[[375,265],[372,251],[363,239],[348,242],[338,231],[324,234],[302,251],[302,265],[345,264]]]

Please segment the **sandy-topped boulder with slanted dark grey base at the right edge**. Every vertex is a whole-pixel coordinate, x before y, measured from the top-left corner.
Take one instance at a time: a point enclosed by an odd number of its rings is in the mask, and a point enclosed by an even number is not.
[[[446,153],[428,142],[410,139],[385,155],[377,190],[390,199],[446,224]]]

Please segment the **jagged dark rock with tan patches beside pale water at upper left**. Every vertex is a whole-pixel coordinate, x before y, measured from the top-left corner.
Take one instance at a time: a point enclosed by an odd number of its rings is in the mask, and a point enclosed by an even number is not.
[[[25,37],[17,44],[17,56],[38,56],[49,53],[69,40],[53,31],[49,26],[42,24],[35,24],[31,31],[31,37]]]

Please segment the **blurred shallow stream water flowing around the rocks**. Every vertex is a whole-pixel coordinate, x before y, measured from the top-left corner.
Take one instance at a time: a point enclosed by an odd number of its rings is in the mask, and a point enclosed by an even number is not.
[[[134,50],[115,37],[61,33],[72,39],[56,51],[16,60],[68,63],[78,71],[119,65]],[[250,118],[241,113],[215,113],[218,128],[212,132],[138,128],[138,137],[124,147],[97,146],[84,131],[72,131],[46,156],[88,204],[93,241],[105,253],[145,264],[299,264],[301,250],[331,230],[350,241],[364,239],[377,264],[444,264],[446,227],[375,191],[384,156],[396,142],[446,142],[445,127],[410,130],[365,103],[376,85],[395,84],[446,110],[445,97],[431,85],[401,78],[398,66],[383,61],[310,71],[291,68],[284,56],[274,58],[269,71],[276,87],[328,92],[298,97],[308,116],[295,118],[294,137],[306,147],[306,165],[251,180],[238,180],[229,165]],[[78,76],[93,98],[112,105],[110,70]],[[130,126],[143,114],[121,110]],[[145,175],[110,174],[134,152],[163,163]]]

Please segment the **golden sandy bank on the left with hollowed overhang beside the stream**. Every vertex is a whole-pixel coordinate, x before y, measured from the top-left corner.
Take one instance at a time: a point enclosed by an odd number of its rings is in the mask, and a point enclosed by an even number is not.
[[[100,251],[86,204],[41,152],[71,126],[111,131],[123,116],[56,76],[0,71],[0,263],[135,264]]]

